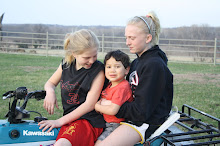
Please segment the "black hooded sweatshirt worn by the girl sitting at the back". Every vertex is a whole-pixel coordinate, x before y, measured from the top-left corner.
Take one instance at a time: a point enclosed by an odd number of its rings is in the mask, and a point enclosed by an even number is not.
[[[123,104],[116,117],[140,126],[162,124],[173,100],[173,75],[166,54],[154,46],[135,59],[127,76],[135,100]]]

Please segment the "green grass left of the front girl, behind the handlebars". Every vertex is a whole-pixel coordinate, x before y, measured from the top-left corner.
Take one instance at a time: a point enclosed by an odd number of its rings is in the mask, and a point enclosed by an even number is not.
[[[27,87],[28,91],[43,90],[45,82],[59,66],[61,57],[45,57],[33,55],[15,55],[0,53],[0,95],[9,90],[15,90],[17,87]],[[60,89],[56,89],[57,98],[60,100]],[[23,101],[21,101],[21,104]],[[0,99],[0,119],[4,119],[8,111],[8,100]],[[30,99],[27,104],[27,110],[35,110],[49,119],[56,119],[62,116],[62,106],[55,110],[54,115],[48,115],[43,109],[43,100],[37,101]],[[31,114],[31,119],[38,116]]]

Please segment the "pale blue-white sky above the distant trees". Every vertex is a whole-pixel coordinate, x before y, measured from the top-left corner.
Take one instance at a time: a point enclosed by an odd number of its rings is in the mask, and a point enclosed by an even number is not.
[[[154,11],[163,28],[220,27],[220,0],[0,0],[4,24],[125,26]]]

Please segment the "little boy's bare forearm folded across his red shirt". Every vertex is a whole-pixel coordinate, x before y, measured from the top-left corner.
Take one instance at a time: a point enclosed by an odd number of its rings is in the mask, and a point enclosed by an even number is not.
[[[121,106],[115,103],[110,103],[110,105],[102,105],[101,101],[95,104],[96,111],[103,113],[103,114],[107,114],[107,115],[116,115],[120,107]]]

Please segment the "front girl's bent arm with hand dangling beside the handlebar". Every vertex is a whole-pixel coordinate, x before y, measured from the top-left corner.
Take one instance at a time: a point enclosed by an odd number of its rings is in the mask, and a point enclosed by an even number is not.
[[[47,110],[49,114],[54,113],[54,105],[58,107],[57,98],[55,95],[55,88],[59,84],[62,75],[61,64],[54,72],[54,74],[50,77],[50,79],[44,85],[44,89],[46,90],[46,97],[44,99],[44,108]]]

